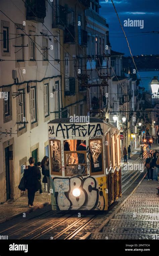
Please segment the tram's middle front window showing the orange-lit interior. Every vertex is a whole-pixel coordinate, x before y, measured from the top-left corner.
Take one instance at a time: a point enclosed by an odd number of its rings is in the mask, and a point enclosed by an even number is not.
[[[64,141],[65,176],[87,174],[86,141]]]

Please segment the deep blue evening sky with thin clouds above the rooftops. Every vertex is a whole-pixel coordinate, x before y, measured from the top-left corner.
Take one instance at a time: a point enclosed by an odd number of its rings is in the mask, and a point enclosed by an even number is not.
[[[144,20],[144,28],[124,27],[133,55],[159,54],[159,34],[142,33],[159,31],[159,0],[114,0],[122,26],[124,20]],[[100,15],[109,24],[112,50],[130,55],[126,38],[121,30],[111,0],[100,0]]]

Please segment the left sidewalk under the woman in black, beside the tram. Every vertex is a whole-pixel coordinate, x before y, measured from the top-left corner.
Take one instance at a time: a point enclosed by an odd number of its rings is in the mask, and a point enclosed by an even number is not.
[[[19,216],[22,213],[32,212],[38,208],[51,203],[51,195],[48,193],[40,194],[39,191],[35,193],[34,208],[28,207],[28,195],[25,194],[14,202],[5,202],[0,204],[0,223]]]

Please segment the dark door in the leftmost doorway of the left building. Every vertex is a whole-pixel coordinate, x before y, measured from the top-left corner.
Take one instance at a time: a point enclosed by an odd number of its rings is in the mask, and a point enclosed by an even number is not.
[[[7,200],[11,198],[10,170],[9,170],[9,147],[5,148],[5,171],[6,171],[6,193]]]

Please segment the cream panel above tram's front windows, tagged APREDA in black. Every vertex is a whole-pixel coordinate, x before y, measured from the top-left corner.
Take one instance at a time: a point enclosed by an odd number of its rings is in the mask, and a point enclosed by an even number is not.
[[[103,124],[49,124],[49,137],[85,137],[103,135]]]

